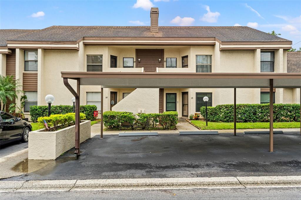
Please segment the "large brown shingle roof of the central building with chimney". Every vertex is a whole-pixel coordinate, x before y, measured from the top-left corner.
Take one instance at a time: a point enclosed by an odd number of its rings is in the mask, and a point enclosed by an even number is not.
[[[289,41],[247,26],[51,26],[13,41],[77,41],[82,37],[215,37],[220,41]]]

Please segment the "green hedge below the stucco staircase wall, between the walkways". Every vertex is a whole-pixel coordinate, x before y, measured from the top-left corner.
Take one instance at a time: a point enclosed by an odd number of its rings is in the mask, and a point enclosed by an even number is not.
[[[136,115],[131,112],[106,111],[103,120],[104,126],[108,129],[121,129],[124,123],[129,123],[133,129],[149,129],[150,127],[156,127],[158,123],[163,129],[175,129],[175,125],[178,123],[178,113],[169,111]]]

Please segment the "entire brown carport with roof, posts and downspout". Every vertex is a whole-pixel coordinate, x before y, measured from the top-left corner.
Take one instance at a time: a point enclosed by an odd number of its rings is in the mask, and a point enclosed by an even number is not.
[[[234,88],[234,135],[236,135],[236,88],[269,88],[270,152],[273,152],[273,88],[301,88],[301,73],[131,73],[62,71],[61,75],[64,80],[64,85],[76,99],[74,153],[77,156],[80,154],[79,97],[81,85],[101,86],[101,138],[103,138],[103,88]],[[76,91],[68,83],[68,79],[77,81]]]

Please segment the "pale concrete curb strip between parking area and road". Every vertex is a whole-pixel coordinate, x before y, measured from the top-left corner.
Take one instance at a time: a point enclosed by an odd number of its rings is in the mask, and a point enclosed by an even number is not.
[[[301,176],[0,181],[0,192],[301,187]]]

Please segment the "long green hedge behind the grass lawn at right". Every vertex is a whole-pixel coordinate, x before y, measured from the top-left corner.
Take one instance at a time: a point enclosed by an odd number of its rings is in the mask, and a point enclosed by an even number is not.
[[[234,105],[225,104],[208,108],[208,121],[233,122]],[[298,122],[300,120],[299,104],[274,104],[274,122]],[[200,114],[205,116],[205,107],[200,108]],[[269,122],[269,104],[237,104],[236,120],[238,122]]]

